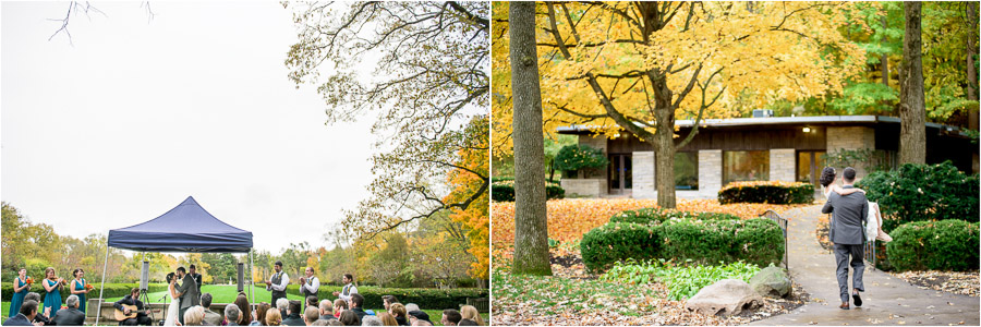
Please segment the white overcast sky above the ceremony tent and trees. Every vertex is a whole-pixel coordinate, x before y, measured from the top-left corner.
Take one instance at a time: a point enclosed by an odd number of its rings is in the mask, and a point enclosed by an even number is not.
[[[373,117],[324,125],[283,65],[278,2],[2,2],[0,197],[63,235],[153,219],[189,195],[259,250],[318,246],[367,197]]]

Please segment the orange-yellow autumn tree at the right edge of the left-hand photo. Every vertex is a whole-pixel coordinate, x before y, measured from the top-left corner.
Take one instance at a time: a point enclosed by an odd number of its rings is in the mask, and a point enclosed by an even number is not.
[[[474,192],[482,189],[488,177],[489,137],[488,118],[486,116],[474,117],[467,126],[465,146],[458,152],[459,159],[456,167],[447,174],[447,182],[452,189],[444,198],[446,203],[465,201]],[[477,279],[488,279],[491,268],[491,220],[488,213],[489,195],[486,190],[483,194],[467,206],[465,209],[453,207],[450,209],[450,218],[453,222],[463,226],[467,239],[470,241],[468,252],[476,257],[476,263],[471,265],[470,276]]]

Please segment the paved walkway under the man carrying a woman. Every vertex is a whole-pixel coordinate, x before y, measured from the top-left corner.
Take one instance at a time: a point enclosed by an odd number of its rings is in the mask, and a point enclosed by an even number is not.
[[[923,290],[865,264],[862,307],[840,310],[834,254],[815,237],[821,206],[787,211],[790,276],[811,302],[789,314],[751,325],[948,325],[978,326],[981,299]],[[849,280],[851,275],[849,274]],[[962,322],[962,323],[961,323]]]

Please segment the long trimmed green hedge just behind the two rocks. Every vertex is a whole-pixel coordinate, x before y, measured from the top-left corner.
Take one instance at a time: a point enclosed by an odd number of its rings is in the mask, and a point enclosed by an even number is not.
[[[706,265],[742,259],[768,266],[779,264],[784,256],[784,232],[764,218],[609,222],[583,234],[581,252],[583,264],[592,271],[628,258],[690,259]]]

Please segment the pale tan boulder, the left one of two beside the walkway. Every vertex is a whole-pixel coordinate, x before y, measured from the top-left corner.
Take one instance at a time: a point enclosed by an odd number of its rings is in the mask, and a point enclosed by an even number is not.
[[[723,279],[702,288],[688,299],[685,307],[704,315],[736,315],[760,305],[763,305],[763,298],[749,283],[739,279]]]

